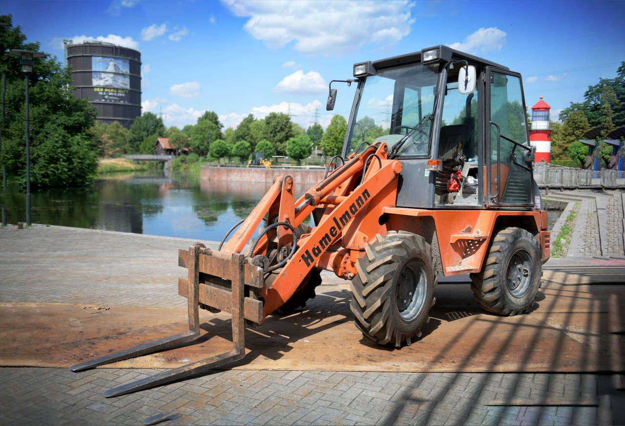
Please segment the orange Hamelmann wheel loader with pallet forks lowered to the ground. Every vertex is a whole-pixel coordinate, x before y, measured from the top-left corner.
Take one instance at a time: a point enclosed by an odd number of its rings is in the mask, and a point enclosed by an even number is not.
[[[304,307],[321,270],[351,280],[354,323],[381,345],[421,337],[439,275],[469,273],[477,302],[494,314],[532,308],[550,233],[532,176],[521,75],[446,46],[357,63],[353,75],[330,83],[328,110],[337,96],[332,83],[357,87],[342,155],[324,178],[296,199],[292,177],[275,177],[218,250],[179,250],[189,330],[71,370],[197,339],[199,309],[232,315],[230,352],[104,395],[240,360],[245,328]]]

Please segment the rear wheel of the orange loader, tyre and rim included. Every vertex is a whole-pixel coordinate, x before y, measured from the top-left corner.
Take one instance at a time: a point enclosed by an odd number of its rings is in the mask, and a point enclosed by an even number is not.
[[[527,230],[502,229],[492,239],[481,272],[471,274],[471,289],[488,312],[517,315],[527,312],[541,284],[541,251]]]

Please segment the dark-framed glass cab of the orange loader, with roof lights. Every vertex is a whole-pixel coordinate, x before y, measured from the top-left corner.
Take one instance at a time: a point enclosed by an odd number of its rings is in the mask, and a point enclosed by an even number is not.
[[[435,46],[355,64],[354,77],[343,155],[386,142],[402,163],[397,207],[534,207],[519,74]]]

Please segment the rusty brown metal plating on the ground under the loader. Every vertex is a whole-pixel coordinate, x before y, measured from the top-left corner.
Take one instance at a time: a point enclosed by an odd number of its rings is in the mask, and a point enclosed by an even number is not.
[[[320,288],[322,289],[322,287]],[[421,339],[380,347],[353,324],[346,287],[329,287],[311,309],[267,317],[246,330],[247,355],[234,368],[379,372],[622,372],[625,286],[549,284],[530,314],[484,313],[467,284],[436,289]],[[101,308],[101,309],[98,309]],[[619,311],[619,312],[614,312]],[[200,312],[202,337],[186,347],[110,364],[171,368],[231,348],[227,314]],[[186,309],[74,304],[0,304],[0,365],[69,367],[186,330]]]

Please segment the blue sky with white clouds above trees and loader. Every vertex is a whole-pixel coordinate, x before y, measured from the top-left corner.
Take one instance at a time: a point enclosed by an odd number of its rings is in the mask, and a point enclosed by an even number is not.
[[[527,107],[552,117],[625,60],[625,1],[1,0],[28,41],[63,61],[63,39],[141,52],[143,111],[166,126],[215,111],[225,127],[288,112],[303,127],[349,115],[354,86],[326,111],[327,84],[354,62],[436,44],[521,72]],[[334,86],[333,86],[334,87]]]

